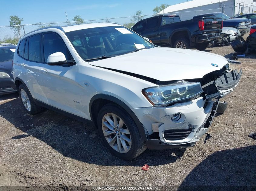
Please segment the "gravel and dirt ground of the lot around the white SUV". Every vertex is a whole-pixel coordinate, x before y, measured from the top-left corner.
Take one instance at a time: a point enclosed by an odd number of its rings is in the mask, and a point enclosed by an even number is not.
[[[234,52],[231,46],[206,51],[226,58]],[[214,119],[206,144],[204,135],[192,148],[147,149],[133,161],[116,158],[99,136],[91,138],[97,132],[88,124],[51,110],[30,116],[17,94],[0,97],[0,190],[10,189],[5,185],[256,189],[251,187],[256,186],[256,141],[248,137],[256,131],[255,58],[246,56],[235,66],[243,68],[243,76],[238,88],[223,98],[228,109]],[[148,171],[141,170],[144,164],[150,166]]]

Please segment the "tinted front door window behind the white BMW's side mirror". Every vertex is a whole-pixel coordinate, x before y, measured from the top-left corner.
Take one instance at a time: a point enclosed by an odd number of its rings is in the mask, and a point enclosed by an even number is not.
[[[71,60],[68,49],[57,34],[45,33],[43,42],[45,62],[47,62],[48,56],[57,52],[63,53],[66,60]],[[75,43],[77,46],[81,46],[81,41],[78,39],[78,37],[75,38],[73,43]]]

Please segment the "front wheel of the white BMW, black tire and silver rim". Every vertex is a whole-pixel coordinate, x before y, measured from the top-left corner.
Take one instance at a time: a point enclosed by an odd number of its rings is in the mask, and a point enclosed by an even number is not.
[[[147,148],[132,117],[118,105],[101,108],[98,130],[107,148],[118,158],[132,160]]]

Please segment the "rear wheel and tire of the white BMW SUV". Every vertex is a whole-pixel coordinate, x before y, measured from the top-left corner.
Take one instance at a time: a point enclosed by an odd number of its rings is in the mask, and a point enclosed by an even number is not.
[[[24,84],[21,84],[19,86],[18,93],[20,96],[22,106],[25,108],[28,114],[35,115],[37,113],[42,112],[43,107],[35,104],[32,95],[30,94],[28,88]]]

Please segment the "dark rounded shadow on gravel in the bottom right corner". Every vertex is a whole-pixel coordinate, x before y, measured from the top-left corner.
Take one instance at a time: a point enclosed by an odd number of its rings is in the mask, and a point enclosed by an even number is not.
[[[255,167],[256,145],[217,151],[195,167],[178,190],[254,190]]]

